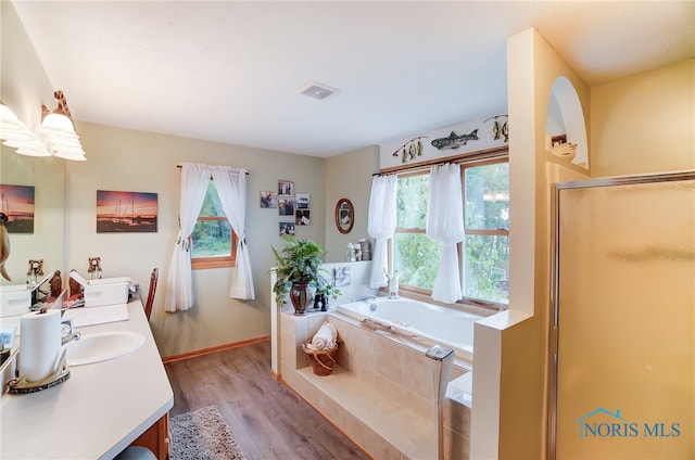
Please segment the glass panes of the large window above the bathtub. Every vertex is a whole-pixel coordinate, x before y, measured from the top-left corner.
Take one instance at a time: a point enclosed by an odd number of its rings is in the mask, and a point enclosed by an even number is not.
[[[508,304],[509,167],[506,157],[462,163],[466,238],[458,245],[464,301]],[[430,294],[440,244],[426,234],[429,170],[399,175],[392,266],[401,288]]]

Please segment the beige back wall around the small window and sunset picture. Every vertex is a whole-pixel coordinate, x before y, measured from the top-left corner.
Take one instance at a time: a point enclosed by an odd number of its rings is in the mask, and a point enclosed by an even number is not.
[[[144,285],[150,270],[161,270],[152,329],[162,356],[173,356],[255,338],[270,333],[270,245],[280,247],[277,209],[260,207],[260,192],[277,190],[278,179],[311,194],[312,225],[298,227],[300,238],[325,244],[325,161],[245,146],[205,142],[152,132],[78,123],[88,161],[67,166],[67,264],[86,274],[87,257],[100,256],[105,277],[130,276]],[[250,171],[247,242],[254,276],[255,301],[229,298],[231,269],[193,272],[194,308],[163,309],[169,260],[178,231],[181,162],[243,167]],[[156,233],[97,233],[97,190],[156,193]],[[282,218],[282,220],[288,220]],[[293,220],[293,219],[289,219]]]

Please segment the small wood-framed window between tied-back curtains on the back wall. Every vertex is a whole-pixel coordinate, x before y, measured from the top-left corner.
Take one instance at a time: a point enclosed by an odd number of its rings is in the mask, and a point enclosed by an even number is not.
[[[194,270],[235,266],[237,235],[225,217],[212,180],[191,233],[191,268]]]

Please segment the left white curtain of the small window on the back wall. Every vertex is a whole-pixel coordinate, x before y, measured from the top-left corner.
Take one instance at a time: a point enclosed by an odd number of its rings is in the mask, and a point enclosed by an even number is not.
[[[193,306],[193,282],[191,273],[191,248],[189,238],[205,200],[210,181],[210,166],[195,163],[181,165],[179,203],[179,231],[174,246],[166,283],[164,309],[184,311]]]

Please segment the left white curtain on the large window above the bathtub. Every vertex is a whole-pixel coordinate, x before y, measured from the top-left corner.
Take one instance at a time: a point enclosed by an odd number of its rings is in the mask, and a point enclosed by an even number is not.
[[[395,175],[375,176],[371,180],[367,218],[367,233],[375,239],[371,273],[369,274],[369,288],[371,289],[388,285],[384,273],[389,269],[387,244],[395,232],[396,192],[397,179]]]

